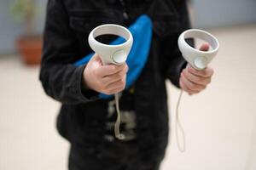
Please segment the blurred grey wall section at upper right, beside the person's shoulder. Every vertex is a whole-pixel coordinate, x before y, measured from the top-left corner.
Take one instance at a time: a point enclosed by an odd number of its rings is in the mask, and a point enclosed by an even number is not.
[[[256,23],[255,0],[192,0],[192,3],[195,27]]]

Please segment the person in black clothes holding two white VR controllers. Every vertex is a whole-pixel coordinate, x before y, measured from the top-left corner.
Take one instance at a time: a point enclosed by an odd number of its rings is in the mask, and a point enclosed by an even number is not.
[[[113,135],[114,101],[97,96],[121,92],[128,66],[102,65],[97,54],[87,65],[73,63],[92,52],[87,37],[94,27],[130,26],[141,14],[153,21],[153,37],[142,73],[119,99],[125,134],[119,140]],[[213,74],[209,67],[186,68],[177,37],[188,28],[184,0],[49,0],[40,80],[62,104],[57,128],[71,144],[70,170],[159,169],[168,139],[166,79],[197,94]]]

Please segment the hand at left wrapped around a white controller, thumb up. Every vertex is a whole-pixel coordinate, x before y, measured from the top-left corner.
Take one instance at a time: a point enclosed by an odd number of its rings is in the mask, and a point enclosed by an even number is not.
[[[84,69],[85,85],[102,94],[116,94],[125,89],[128,65],[102,65],[95,54]]]

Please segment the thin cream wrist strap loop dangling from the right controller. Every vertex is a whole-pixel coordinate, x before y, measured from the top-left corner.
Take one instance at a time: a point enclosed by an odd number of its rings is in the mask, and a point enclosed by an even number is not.
[[[183,95],[183,90],[180,91],[180,94],[178,96],[177,99],[177,105],[176,105],[176,120],[175,120],[175,135],[176,135],[176,144],[177,144],[177,149],[180,152],[184,152],[186,150],[186,139],[185,139],[185,133],[182,127],[182,124],[180,122],[180,118],[179,118],[179,105],[180,105],[180,101],[182,99],[182,95]],[[181,138],[182,138],[182,142],[179,139],[179,132],[181,133]],[[181,144],[182,143],[182,144]]]

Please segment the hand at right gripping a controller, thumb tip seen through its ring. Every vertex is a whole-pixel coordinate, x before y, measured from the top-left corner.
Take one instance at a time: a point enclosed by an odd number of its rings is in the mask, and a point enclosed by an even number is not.
[[[203,44],[200,48],[201,51],[207,51],[209,49],[209,44]],[[188,92],[189,94],[197,94],[201,90],[207,88],[207,85],[211,82],[213,75],[213,69],[207,67],[202,71],[197,71],[190,65],[183,69],[179,79],[180,87]]]

